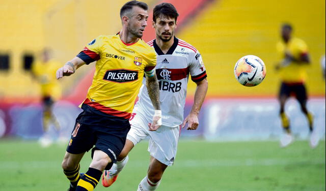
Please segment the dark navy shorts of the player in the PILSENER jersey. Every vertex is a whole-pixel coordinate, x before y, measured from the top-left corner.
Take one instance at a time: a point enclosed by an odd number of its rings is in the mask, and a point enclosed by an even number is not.
[[[130,130],[129,120],[104,114],[83,104],[83,112],[76,118],[74,130],[67,146],[67,152],[79,154],[96,150],[105,152],[115,163],[126,142]]]

